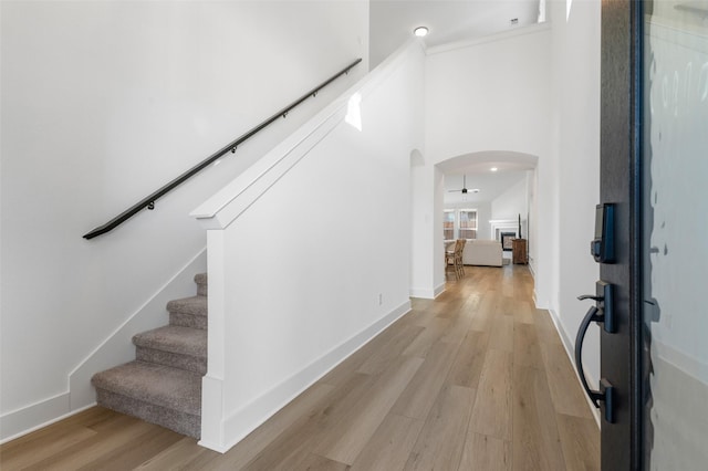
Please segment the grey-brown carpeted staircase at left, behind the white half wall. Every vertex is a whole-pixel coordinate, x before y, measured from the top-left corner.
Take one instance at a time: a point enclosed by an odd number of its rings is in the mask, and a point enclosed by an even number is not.
[[[199,438],[201,377],[207,373],[207,274],[197,295],[167,303],[169,325],[137,334],[135,362],[91,379],[103,407]]]

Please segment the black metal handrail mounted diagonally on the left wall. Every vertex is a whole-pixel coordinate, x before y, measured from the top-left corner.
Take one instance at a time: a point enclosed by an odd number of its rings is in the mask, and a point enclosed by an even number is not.
[[[225,154],[228,154],[229,151],[236,153],[236,148],[239,145],[243,144],[246,140],[248,140],[249,138],[253,137],[258,132],[260,132],[261,129],[263,129],[264,127],[267,127],[268,125],[270,125],[271,123],[277,121],[278,118],[280,118],[280,117],[284,118],[292,108],[294,108],[295,106],[298,106],[299,104],[301,104],[302,102],[308,100],[309,97],[311,97],[311,96],[314,97],[320,90],[324,88],[325,86],[327,86],[330,83],[334,82],[340,76],[342,76],[344,74],[348,74],[350,70],[352,70],[360,62],[362,62],[361,59],[357,59],[356,61],[352,62],[346,67],[344,67],[340,72],[337,72],[336,74],[332,75],[330,78],[327,78],[326,81],[322,82],[320,85],[317,85],[316,87],[312,88],[310,92],[305,93],[300,98],[298,98],[294,102],[292,102],[290,105],[285,106],[284,108],[282,108],[281,111],[279,111],[278,113],[275,113],[274,115],[269,117],[268,119],[263,121],[261,124],[259,124],[258,126],[253,127],[252,129],[250,129],[249,132],[247,132],[246,134],[240,136],[238,139],[227,144],[226,146],[223,146],[222,148],[220,148],[216,153],[211,154],[209,157],[204,159],[201,163],[199,163],[196,166],[191,167],[189,170],[185,171],[179,177],[177,177],[174,180],[171,180],[169,184],[165,185],[164,187],[162,187],[157,191],[150,193],[149,196],[143,198],[142,200],[139,200],[138,202],[136,202],[135,205],[133,205],[132,207],[129,207],[128,209],[126,209],[125,211],[123,211],[122,213],[116,216],[115,218],[111,219],[105,224],[98,226],[97,228],[95,228],[91,232],[84,234],[84,239],[93,239],[96,236],[101,236],[101,234],[104,234],[104,233],[106,233],[108,231],[112,231],[113,229],[117,228],[123,222],[127,221],[129,218],[132,218],[133,216],[135,216],[136,213],[142,211],[143,209],[155,209],[155,201],[157,201],[157,199],[159,199],[160,197],[165,196],[167,192],[171,191],[177,186],[181,185],[183,182],[185,182],[186,180],[188,180],[189,178],[191,178],[192,176],[195,176],[196,174],[198,174],[199,171],[201,171],[202,169],[208,167],[211,163],[218,160]]]

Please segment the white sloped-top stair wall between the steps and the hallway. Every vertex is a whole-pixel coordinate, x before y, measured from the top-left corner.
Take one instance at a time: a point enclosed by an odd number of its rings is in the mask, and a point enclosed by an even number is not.
[[[409,311],[423,62],[410,43],[194,211],[209,229],[204,395],[220,398],[202,401],[201,444],[226,451]]]

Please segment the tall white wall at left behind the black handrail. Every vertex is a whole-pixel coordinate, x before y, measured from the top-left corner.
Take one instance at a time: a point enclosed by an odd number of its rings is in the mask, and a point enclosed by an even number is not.
[[[82,406],[70,373],[204,249],[188,211],[366,71],[368,6],[1,8],[4,438]],[[348,76],[218,170],[82,239],[356,57],[364,63]],[[163,310],[146,315],[167,320]]]

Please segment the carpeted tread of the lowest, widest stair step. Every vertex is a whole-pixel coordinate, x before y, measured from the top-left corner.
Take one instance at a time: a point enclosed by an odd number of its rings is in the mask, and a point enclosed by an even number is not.
[[[192,416],[201,415],[201,375],[144,362],[97,373],[94,387]]]

